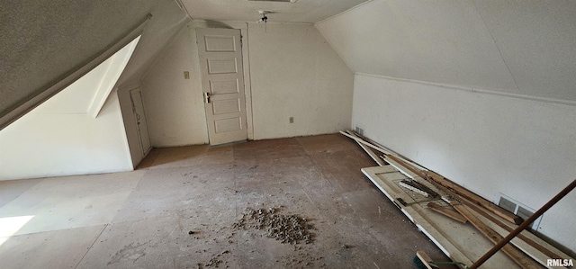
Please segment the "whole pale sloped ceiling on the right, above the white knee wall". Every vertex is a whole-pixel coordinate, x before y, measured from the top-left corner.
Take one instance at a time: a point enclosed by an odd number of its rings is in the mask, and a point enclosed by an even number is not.
[[[356,72],[576,101],[575,1],[374,0],[317,23]]]

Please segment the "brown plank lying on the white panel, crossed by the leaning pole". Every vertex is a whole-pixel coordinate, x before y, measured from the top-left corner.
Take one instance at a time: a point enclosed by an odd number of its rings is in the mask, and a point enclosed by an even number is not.
[[[503,239],[503,237],[500,236],[498,232],[488,227],[482,222],[482,220],[476,218],[476,216],[471,211],[468,211],[468,208],[463,203],[451,202],[451,205],[456,211],[460,212],[460,214],[462,214],[468,221],[470,221],[470,223],[472,223],[472,225],[478,229],[486,238],[490,239],[492,243],[498,244],[498,242]],[[534,260],[510,244],[506,244],[501,248],[501,250],[522,268],[542,268],[541,265],[536,264]]]

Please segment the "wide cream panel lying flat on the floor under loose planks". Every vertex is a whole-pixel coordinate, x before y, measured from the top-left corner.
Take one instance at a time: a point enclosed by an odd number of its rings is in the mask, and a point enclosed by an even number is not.
[[[424,234],[453,261],[472,265],[494,245],[483,237],[471,224],[446,218],[428,208],[428,202],[442,203],[441,198],[425,197],[400,186],[402,179],[409,178],[399,173],[392,166],[375,166],[363,168],[362,172],[394,202]],[[419,177],[414,177],[421,184],[440,193],[434,185]],[[399,202],[399,200],[403,201]],[[447,204],[446,204],[447,205]],[[502,252],[492,256],[484,265],[486,268],[519,268]]]

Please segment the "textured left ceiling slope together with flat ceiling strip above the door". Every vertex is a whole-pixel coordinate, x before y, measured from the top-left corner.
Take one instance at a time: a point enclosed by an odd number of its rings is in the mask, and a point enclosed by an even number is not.
[[[128,43],[123,39],[148,14],[152,17],[121,83],[139,79],[184,25],[185,12],[207,21],[256,22],[257,10],[265,10],[273,12],[269,22],[319,22],[365,1],[0,1],[0,130],[102,62],[103,54],[112,55],[113,47]]]

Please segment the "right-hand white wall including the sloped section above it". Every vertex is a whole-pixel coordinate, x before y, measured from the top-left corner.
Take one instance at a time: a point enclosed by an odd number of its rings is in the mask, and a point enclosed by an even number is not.
[[[316,26],[357,72],[353,127],[488,200],[538,209],[576,175],[574,13],[573,1],[374,0]],[[538,230],[572,250],[575,202]]]

